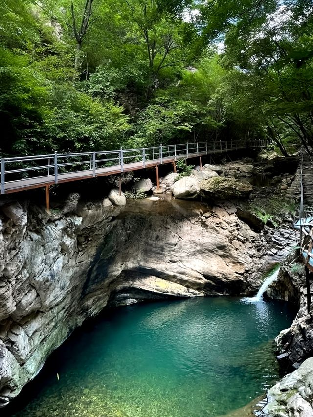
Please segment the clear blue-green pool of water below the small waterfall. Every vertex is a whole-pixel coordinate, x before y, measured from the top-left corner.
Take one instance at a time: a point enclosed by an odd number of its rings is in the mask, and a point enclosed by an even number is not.
[[[226,297],[110,310],[52,355],[16,416],[227,414],[278,378],[272,341],[293,316]]]

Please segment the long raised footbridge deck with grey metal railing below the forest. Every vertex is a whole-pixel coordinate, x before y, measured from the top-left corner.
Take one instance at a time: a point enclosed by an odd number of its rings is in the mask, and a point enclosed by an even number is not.
[[[148,148],[119,149],[113,151],[81,152],[1,158],[1,194],[5,193],[5,185],[29,179],[43,179],[55,184],[65,175],[74,177],[75,174],[87,174],[95,177],[101,172],[118,169],[120,172],[130,169],[131,165],[139,164],[145,168],[147,164],[162,164],[176,161],[179,158],[189,158],[206,154],[227,152],[243,148],[263,148],[265,140],[233,141],[218,140],[177,145],[160,145]],[[77,176],[77,175],[76,175]],[[40,181],[39,181],[40,182]]]

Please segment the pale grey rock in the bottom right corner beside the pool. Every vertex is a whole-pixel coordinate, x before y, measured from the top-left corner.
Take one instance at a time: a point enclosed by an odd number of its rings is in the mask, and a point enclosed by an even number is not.
[[[313,417],[313,358],[268,391],[263,413],[268,417]]]

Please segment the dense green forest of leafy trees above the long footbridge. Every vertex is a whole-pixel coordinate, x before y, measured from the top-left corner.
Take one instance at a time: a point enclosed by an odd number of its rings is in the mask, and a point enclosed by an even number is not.
[[[1,155],[313,145],[312,0],[2,0]]]

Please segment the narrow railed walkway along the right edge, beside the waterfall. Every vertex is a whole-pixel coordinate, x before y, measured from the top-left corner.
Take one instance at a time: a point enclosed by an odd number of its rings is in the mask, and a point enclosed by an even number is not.
[[[313,277],[313,159],[306,150],[301,151],[300,191],[300,208],[293,227],[300,231],[300,252],[305,264],[308,312],[310,312],[310,279]]]

